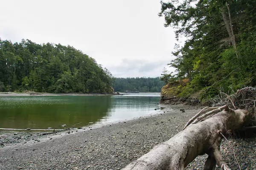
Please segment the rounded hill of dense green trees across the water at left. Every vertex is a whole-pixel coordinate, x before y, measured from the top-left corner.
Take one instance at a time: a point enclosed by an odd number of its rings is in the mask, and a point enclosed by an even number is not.
[[[0,91],[111,93],[112,75],[71,46],[0,39]]]

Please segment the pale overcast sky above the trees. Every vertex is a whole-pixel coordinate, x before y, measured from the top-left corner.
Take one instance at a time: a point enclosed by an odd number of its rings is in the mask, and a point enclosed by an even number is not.
[[[160,0],[0,0],[0,38],[71,45],[114,77],[158,77],[174,57]],[[173,68],[168,68],[174,71]]]

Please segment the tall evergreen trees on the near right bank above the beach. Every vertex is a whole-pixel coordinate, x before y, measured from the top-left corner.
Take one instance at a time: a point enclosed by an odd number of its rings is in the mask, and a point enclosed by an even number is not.
[[[161,2],[165,26],[176,28],[175,79],[191,80],[180,96],[203,90],[202,98],[256,85],[256,0]]]

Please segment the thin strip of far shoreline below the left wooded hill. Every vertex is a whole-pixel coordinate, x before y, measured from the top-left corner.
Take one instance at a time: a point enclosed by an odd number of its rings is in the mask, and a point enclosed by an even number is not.
[[[14,93],[1,92],[0,97],[15,97],[15,96],[115,96],[122,94],[77,94],[77,93]]]

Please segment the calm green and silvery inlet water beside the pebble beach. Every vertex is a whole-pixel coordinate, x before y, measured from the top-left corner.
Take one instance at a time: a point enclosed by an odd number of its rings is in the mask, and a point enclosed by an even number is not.
[[[160,94],[0,97],[0,128],[55,129],[157,113]]]

